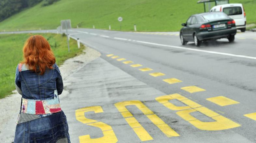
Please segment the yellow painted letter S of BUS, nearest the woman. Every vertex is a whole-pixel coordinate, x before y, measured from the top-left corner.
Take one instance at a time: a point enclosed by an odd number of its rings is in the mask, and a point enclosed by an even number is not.
[[[116,143],[118,139],[116,138],[116,135],[112,129],[111,126],[99,122],[97,120],[88,119],[85,117],[85,112],[94,111],[94,113],[102,113],[103,109],[101,106],[90,106],[90,107],[84,107],[76,110],[76,119],[80,121],[83,124],[98,127],[102,130],[103,137],[101,138],[90,138],[90,135],[84,135],[79,136],[79,142],[80,143]]]

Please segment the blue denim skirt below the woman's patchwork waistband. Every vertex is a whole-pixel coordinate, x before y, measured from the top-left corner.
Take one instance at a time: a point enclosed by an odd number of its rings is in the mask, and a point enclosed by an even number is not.
[[[70,143],[67,119],[63,111],[16,126],[14,143]]]

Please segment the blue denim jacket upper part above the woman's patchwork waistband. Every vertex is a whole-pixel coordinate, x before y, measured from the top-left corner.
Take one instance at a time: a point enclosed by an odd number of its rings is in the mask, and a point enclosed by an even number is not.
[[[43,75],[30,71],[25,64],[16,68],[16,90],[22,98],[33,100],[49,100],[63,91],[63,81],[59,67],[55,63],[53,69],[46,69]],[[56,95],[57,94],[57,95]]]

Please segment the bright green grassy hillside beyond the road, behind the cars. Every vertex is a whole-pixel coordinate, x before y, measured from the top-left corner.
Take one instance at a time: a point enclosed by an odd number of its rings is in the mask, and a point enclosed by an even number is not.
[[[61,0],[50,6],[38,4],[0,23],[3,30],[55,29],[60,20],[71,19],[72,27],[120,30],[117,20],[123,17],[122,30],[178,31],[181,23],[196,13],[204,12],[198,0]],[[256,23],[256,0],[230,0],[242,3],[247,23]]]

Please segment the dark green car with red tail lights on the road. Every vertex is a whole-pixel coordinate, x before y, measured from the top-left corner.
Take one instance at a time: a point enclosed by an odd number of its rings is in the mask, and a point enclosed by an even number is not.
[[[206,12],[195,14],[182,23],[180,29],[180,41],[182,45],[188,41],[200,46],[202,41],[211,39],[228,38],[230,42],[235,40],[235,21],[223,12]]]

